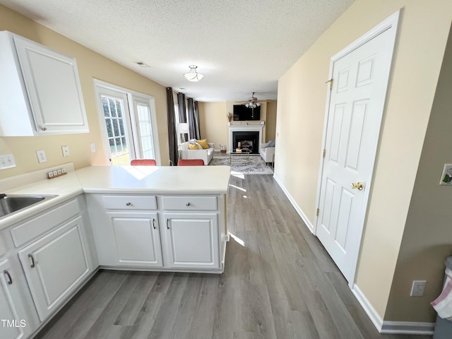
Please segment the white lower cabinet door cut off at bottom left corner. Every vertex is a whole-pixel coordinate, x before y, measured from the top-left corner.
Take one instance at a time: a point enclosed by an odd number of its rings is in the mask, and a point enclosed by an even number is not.
[[[25,318],[24,306],[8,260],[0,263],[0,337],[1,339],[27,338],[34,328]]]

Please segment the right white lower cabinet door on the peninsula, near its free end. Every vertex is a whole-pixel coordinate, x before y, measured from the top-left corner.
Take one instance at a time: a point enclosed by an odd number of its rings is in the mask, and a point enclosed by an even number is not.
[[[168,267],[219,268],[218,215],[166,213]]]

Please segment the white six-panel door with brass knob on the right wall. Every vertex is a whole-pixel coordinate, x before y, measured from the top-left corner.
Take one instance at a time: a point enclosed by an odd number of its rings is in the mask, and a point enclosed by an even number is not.
[[[355,278],[397,18],[332,59],[316,235],[349,283]]]

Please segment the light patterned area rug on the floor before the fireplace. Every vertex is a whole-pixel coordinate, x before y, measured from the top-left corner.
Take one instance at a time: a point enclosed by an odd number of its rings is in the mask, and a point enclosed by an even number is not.
[[[215,165],[230,166],[231,174],[273,174],[273,168],[263,162],[261,155],[250,155],[248,164],[245,157],[233,157],[230,164],[229,155],[214,156],[209,166]]]

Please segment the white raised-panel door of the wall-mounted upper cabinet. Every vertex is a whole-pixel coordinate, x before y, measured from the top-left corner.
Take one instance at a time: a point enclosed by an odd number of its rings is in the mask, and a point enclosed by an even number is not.
[[[89,132],[76,59],[15,36],[37,130]]]

